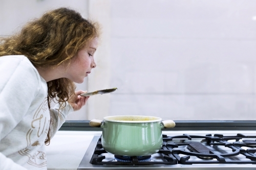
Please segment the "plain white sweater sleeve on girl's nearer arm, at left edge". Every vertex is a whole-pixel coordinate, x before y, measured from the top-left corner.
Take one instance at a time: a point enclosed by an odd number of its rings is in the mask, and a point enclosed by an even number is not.
[[[22,120],[37,94],[37,75],[27,60],[0,57],[0,141]],[[0,169],[25,168],[0,153]]]

